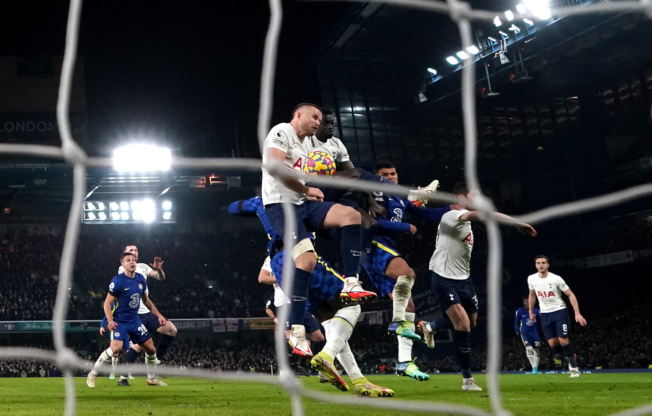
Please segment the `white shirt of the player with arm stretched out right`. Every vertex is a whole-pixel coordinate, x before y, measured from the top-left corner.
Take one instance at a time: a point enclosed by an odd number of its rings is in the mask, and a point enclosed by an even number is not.
[[[430,270],[454,280],[469,278],[473,231],[471,222],[460,220],[468,209],[452,209],[441,216],[437,228],[435,252],[430,258]]]

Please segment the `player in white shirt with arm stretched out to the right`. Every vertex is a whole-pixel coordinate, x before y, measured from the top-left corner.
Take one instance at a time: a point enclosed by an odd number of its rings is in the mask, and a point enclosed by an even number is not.
[[[419,322],[426,344],[434,347],[434,333],[437,329],[454,329],[452,340],[457,362],[462,368],[462,390],[482,391],[475,384],[471,375],[471,328],[475,327],[478,316],[478,298],[469,275],[471,267],[471,250],[473,250],[473,231],[471,221],[480,221],[479,211],[466,209],[467,202],[473,203],[473,191],[466,183],[456,183],[452,190],[460,203],[451,205],[451,211],[445,213],[437,229],[435,252],[430,258],[432,271],[432,289],[437,293],[439,306],[445,311],[443,318],[436,321]],[[505,214],[496,213],[498,218],[514,220]],[[529,235],[537,235],[528,224],[517,227]]]

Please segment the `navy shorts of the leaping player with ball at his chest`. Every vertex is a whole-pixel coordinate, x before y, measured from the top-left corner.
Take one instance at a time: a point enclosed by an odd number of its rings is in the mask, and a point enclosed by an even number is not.
[[[329,209],[335,205],[334,202],[305,201],[300,205],[292,205],[297,221],[297,230],[294,231],[295,242],[312,237],[312,233],[319,230]],[[280,238],[283,238],[285,231],[285,217],[283,216],[282,203],[270,203],[265,205],[265,214],[269,219],[274,231]]]

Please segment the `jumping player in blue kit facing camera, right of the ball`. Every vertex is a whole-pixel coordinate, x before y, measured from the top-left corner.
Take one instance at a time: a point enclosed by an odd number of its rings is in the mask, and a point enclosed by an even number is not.
[[[374,173],[398,185],[398,173],[390,162],[379,162]],[[394,240],[402,233],[414,234],[417,228],[406,220],[405,214],[419,216],[424,220],[438,221],[451,211],[450,207],[437,209],[419,208],[407,198],[374,192],[376,201],[384,205],[387,216],[377,218],[378,230],[374,237],[372,252],[364,269],[380,291],[380,296],[388,295],[393,301],[393,318],[387,331],[398,336],[398,361],[396,374],[415,380],[425,381],[430,377],[421,372],[412,361],[412,342],[421,340],[415,330],[415,308],[411,299],[412,286],[416,275],[405,259],[396,250]]]

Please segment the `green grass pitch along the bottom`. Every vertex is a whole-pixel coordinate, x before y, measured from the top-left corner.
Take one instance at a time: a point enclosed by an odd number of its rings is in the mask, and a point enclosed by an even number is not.
[[[335,395],[353,394],[322,385],[316,376],[301,378],[312,389]],[[348,378],[346,378],[348,381]],[[462,391],[462,378],[435,374],[419,383],[397,376],[370,376],[379,385],[396,391],[395,398],[437,400],[490,409],[486,378],[476,375],[482,392]],[[131,387],[117,387],[117,379],[98,377],[95,389],[85,378],[76,378],[78,415],[289,415],[288,395],[262,383],[167,378],[168,387],[147,386],[145,378],[130,380]],[[514,415],[608,415],[652,402],[652,374],[506,374],[501,376],[503,402]],[[63,414],[62,378],[0,378],[0,414]],[[366,398],[366,400],[394,400]],[[304,400],[306,415],[393,415],[374,408],[355,408]]]

